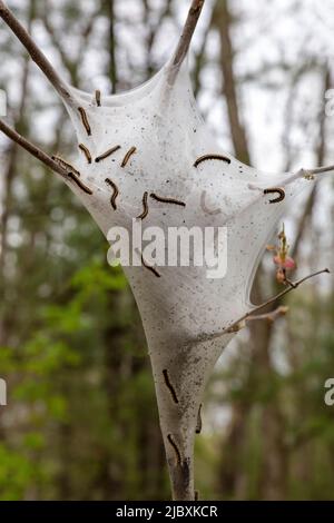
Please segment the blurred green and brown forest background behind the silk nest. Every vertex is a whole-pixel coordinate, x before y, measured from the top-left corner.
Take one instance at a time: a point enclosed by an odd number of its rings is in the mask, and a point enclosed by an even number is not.
[[[119,92],[169,57],[188,0],[12,0],[56,67],[88,91]],[[269,171],[333,164],[331,1],[207,0],[190,66],[225,150]],[[57,96],[0,24],[0,88],[16,128],[70,158]],[[331,93],[331,91],[330,91]],[[160,500],[169,482],[136,304],[108,245],[56,176],[0,137],[0,500]],[[333,269],[331,176],[286,218],[294,277]],[[314,187],[314,188],[313,188]],[[277,292],[271,255],[254,287]],[[334,279],[252,323],[219,361],[197,438],[196,487],[212,500],[334,497]]]

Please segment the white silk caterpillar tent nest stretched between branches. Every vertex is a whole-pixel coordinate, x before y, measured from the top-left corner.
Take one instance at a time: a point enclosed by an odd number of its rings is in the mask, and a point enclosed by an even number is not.
[[[219,150],[196,106],[187,61],[174,63],[122,95],[92,96],[62,82],[79,145],[66,182],[106,237],[112,227],[131,233],[138,216],[144,230],[159,227],[166,237],[170,227],[227,227],[223,278],[208,278],[206,266],[124,267],[147,337],[174,496],[193,500],[203,392],[233,337],[219,333],[253,310],[249,292],[266,241],[310,181],[303,171],[261,172]],[[273,203],[272,193],[284,198]]]

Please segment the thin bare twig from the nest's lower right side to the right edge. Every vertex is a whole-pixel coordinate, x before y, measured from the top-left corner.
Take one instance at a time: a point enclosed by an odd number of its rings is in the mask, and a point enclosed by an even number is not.
[[[302,285],[304,282],[306,282],[307,279],[311,279],[311,278],[314,278],[315,276],[318,276],[320,274],[324,274],[324,273],[331,273],[330,269],[325,268],[325,269],[322,269],[322,270],[317,270],[316,273],[313,273],[313,274],[310,274],[307,276],[304,276],[304,278],[301,278],[298,279],[297,282],[288,282],[288,287],[285,288],[284,290],[282,290],[281,293],[276,294],[276,296],[269,298],[268,300],[266,300],[265,303],[261,304],[261,305],[257,305],[256,307],[254,307],[254,309],[250,312],[250,313],[247,313],[247,314],[244,314],[244,316],[242,316],[239,319],[237,319],[236,322],[234,322],[232,325],[229,325],[228,327],[224,328],[224,330],[222,330],[220,333],[215,333],[215,334],[208,334],[208,335],[204,335],[204,336],[199,336],[196,342],[197,343],[202,343],[202,342],[209,342],[212,339],[217,339],[222,336],[224,336],[225,334],[232,334],[232,333],[236,333],[238,330],[240,330],[240,328],[243,328],[243,323],[245,322],[248,322],[253,315],[255,313],[257,313],[258,310],[263,309],[264,307],[275,303],[277,299],[279,298],[283,298],[283,296],[285,296],[286,294],[291,293],[292,290],[296,289],[297,287],[299,287],[299,285]],[[261,319],[261,318],[256,318],[256,319]]]

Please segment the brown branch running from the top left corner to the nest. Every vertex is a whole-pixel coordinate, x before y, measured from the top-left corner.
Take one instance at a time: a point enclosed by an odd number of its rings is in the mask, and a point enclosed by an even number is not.
[[[40,70],[45,73],[48,78],[50,83],[57,90],[62,99],[72,103],[72,98],[70,92],[67,89],[66,83],[59,77],[58,72],[47,57],[42,53],[42,51],[38,48],[35,43],[30,34],[23,28],[23,26],[19,22],[19,20],[14,17],[14,14],[10,11],[10,9],[6,6],[6,3],[0,0],[0,17],[7,23],[7,26],[12,30],[12,32],[17,36],[20,42],[24,46],[27,51],[29,52],[32,60],[37,63]]]

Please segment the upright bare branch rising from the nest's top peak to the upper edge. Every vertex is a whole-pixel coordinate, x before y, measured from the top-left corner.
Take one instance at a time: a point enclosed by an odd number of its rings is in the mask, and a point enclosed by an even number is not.
[[[183,29],[183,33],[180,36],[178,46],[176,48],[176,51],[171,61],[169,83],[174,83],[174,80],[179,71],[179,68],[183,65],[183,61],[185,60],[187,56],[198,19],[202,13],[204,2],[205,0],[193,0],[191,2],[188,17]]]

